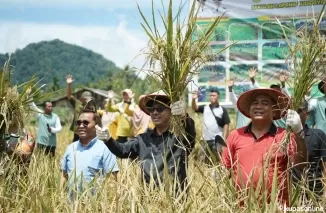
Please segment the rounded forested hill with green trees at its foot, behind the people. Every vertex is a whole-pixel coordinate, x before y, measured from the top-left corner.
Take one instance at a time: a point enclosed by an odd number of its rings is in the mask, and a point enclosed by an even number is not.
[[[0,66],[8,59],[8,54],[0,54]],[[51,97],[65,94],[66,75],[72,74],[75,79],[73,88],[92,87],[103,90],[114,90],[120,94],[123,89],[131,88],[139,95],[159,90],[158,84],[150,78],[138,78],[134,70],[124,70],[102,55],[85,48],[64,43],[60,40],[43,41],[29,44],[17,50],[10,64],[14,66],[11,75],[13,84],[28,81],[35,75],[41,84],[47,84],[46,91],[58,91]]]

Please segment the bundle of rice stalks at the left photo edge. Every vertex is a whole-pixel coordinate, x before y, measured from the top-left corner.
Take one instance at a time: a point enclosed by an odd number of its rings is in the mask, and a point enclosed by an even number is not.
[[[0,72],[0,139],[6,134],[21,133],[28,104],[43,98],[41,88],[37,87],[37,78],[20,85],[11,85],[11,66],[9,60]]]

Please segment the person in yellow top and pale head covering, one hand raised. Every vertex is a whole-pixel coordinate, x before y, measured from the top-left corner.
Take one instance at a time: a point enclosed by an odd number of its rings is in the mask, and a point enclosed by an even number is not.
[[[113,94],[109,93],[109,101],[106,109],[108,112],[119,112],[119,115],[116,117],[118,136],[116,141],[119,143],[125,143],[128,138],[133,137],[131,118],[133,116],[135,105],[132,103],[134,94],[130,89],[125,89],[122,91],[122,95],[123,101],[114,104]]]

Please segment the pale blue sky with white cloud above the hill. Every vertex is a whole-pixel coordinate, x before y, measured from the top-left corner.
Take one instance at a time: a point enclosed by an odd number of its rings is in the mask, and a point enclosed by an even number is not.
[[[168,1],[163,1],[167,6]],[[175,7],[180,1],[173,0]],[[60,39],[100,53],[123,67],[147,44],[137,2],[151,19],[151,0],[0,0],[0,53]],[[154,2],[162,8],[161,0]],[[142,64],[140,57],[132,65]]]

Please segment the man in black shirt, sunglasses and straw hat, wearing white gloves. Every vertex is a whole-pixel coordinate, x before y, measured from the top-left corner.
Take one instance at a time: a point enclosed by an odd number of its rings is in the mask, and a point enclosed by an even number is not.
[[[164,182],[164,168],[167,169],[177,188],[186,187],[186,167],[188,155],[194,147],[196,130],[194,121],[185,112],[183,102],[171,104],[164,92],[146,95],[139,101],[139,107],[150,115],[155,128],[121,144],[116,143],[107,130],[98,128],[97,135],[106,141],[113,154],[120,158],[138,157],[142,178],[146,183],[154,181],[156,186]],[[171,117],[180,116],[183,120],[186,137],[176,137],[170,130]],[[166,176],[164,178],[167,178]],[[179,185],[180,184],[180,185]],[[180,187],[180,188],[179,188]],[[180,192],[178,191],[177,192]]]

